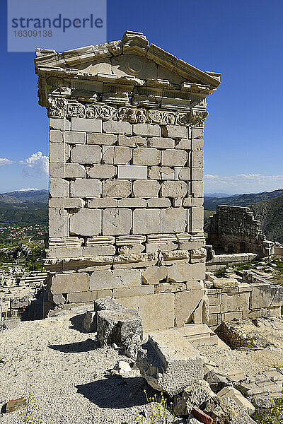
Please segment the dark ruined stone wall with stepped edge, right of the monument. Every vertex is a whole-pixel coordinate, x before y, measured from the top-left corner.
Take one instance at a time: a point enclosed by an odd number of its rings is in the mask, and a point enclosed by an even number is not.
[[[274,252],[274,243],[266,240],[250,208],[219,205],[212,216],[207,243],[229,253],[250,252],[260,257]]]

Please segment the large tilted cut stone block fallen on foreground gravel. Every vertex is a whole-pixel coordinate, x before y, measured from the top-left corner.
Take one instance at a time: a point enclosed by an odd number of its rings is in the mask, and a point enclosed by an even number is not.
[[[149,334],[138,353],[137,367],[151,387],[170,396],[203,378],[200,354],[173,330]]]

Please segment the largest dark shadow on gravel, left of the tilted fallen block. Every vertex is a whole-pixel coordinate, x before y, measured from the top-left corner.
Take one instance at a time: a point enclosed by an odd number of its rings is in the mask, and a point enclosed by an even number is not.
[[[144,389],[148,385],[142,377],[100,379],[76,386],[78,392],[100,408],[131,408],[147,404]]]

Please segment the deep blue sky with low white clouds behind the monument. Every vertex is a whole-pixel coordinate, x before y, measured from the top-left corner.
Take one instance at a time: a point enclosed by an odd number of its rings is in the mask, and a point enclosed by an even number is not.
[[[5,1],[1,9],[0,192],[47,188],[47,114],[37,105],[34,54],[7,53]],[[282,0],[108,0],[108,41],[141,31],[223,74],[208,98],[206,192],[283,188],[282,15]]]

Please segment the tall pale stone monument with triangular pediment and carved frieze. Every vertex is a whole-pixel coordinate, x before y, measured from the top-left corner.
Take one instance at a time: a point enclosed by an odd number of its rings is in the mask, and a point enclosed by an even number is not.
[[[50,119],[51,305],[112,296],[145,329],[203,322],[203,133],[220,74],[127,31],[37,49]]]

